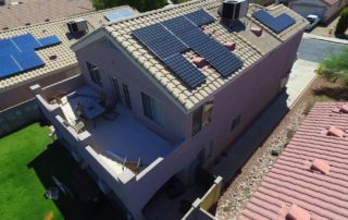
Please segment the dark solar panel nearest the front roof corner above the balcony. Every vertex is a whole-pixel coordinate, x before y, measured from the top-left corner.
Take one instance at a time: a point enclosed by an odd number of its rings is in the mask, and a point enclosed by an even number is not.
[[[206,75],[182,54],[174,54],[165,59],[164,63],[189,88],[196,88],[206,82]]]

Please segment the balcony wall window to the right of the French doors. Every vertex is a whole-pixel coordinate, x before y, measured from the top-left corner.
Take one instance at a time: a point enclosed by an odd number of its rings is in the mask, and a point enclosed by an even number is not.
[[[141,100],[144,114],[158,124],[163,125],[163,120],[161,117],[161,106],[159,105],[159,102],[145,93],[141,93]]]

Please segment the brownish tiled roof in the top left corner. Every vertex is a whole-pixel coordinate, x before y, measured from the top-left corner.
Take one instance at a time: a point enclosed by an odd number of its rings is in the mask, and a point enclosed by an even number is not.
[[[11,5],[14,1],[7,3],[7,5],[0,7],[0,29],[94,11],[89,0],[21,0],[21,4]]]

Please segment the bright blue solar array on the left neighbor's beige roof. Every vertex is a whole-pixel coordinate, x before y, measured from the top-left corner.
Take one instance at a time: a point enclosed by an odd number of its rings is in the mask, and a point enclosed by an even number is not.
[[[57,36],[36,39],[32,34],[0,39],[0,78],[44,66],[35,50],[60,42]]]

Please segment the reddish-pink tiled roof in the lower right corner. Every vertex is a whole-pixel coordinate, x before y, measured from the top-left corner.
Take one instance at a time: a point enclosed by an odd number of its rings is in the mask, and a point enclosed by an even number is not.
[[[316,103],[239,219],[348,219],[347,170],[348,103]]]

